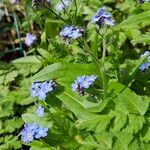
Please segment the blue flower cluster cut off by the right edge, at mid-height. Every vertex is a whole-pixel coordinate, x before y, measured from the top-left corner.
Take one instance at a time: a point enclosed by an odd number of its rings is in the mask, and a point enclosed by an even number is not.
[[[145,57],[145,56],[148,56],[147,57],[147,61],[142,63],[139,67],[139,69],[143,72],[145,71],[146,69],[148,69],[150,67],[150,52],[149,51],[145,51],[144,54],[141,55],[141,58],[142,57]]]

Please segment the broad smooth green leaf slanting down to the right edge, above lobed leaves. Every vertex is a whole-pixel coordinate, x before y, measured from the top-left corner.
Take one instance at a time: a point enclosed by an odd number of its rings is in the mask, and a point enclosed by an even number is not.
[[[117,82],[112,82],[110,84],[110,89],[115,94],[115,97],[113,98],[114,102],[115,98],[118,99],[118,101],[122,103],[130,113],[141,115],[146,113],[149,107],[149,99],[147,97],[138,96],[129,88]]]

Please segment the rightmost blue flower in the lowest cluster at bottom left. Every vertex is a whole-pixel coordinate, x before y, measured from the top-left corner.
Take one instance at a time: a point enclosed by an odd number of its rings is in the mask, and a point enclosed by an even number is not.
[[[47,136],[47,131],[48,131],[48,128],[39,126],[35,132],[35,138],[39,139],[41,137]]]

